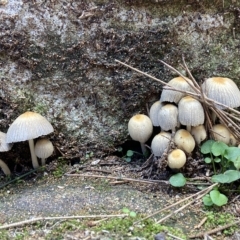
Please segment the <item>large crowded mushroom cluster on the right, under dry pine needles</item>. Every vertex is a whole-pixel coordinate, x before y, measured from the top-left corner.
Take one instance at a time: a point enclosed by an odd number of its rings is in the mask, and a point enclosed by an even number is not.
[[[240,106],[237,85],[223,77],[206,79],[198,91],[194,84],[184,76],[173,78],[163,88],[160,100],[151,106],[149,117],[137,114],[128,123],[129,134],[133,140],[141,143],[143,153],[146,151],[146,141],[152,136],[153,126],[161,128],[160,133],[152,139],[151,150],[156,157],[161,157],[172,141],[176,148],[167,152],[168,166],[172,169],[182,168],[186,163],[186,155],[191,154],[195,146],[207,138],[229,145],[237,145],[238,142],[226,124],[221,123],[223,118],[218,119],[216,115],[218,110]],[[205,106],[199,96],[208,99]],[[211,101],[213,105],[209,104]],[[207,104],[209,109],[206,109]],[[207,116],[206,111],[209,112]],[[207,120],[211,125],[208,129]]]

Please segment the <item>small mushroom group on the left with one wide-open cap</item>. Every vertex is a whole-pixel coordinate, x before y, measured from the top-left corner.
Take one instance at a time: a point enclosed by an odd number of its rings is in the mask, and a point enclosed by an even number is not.
[[[45,137],[38,139],[35,145],[33,139],[51,132],[53,127],[45,117],[35,112],[25,112],[15,119],[7,133],[0,132],[0,152],[9,151],[15,142],[28,140],[32,165],[37,169],[39,167],[37,157],[41,159],[41,164],[45,165],[45,159],[52,155],[54,147]],[[11,174],[9,167],[2,160],[0,160],[0,168],[6,175]]]

